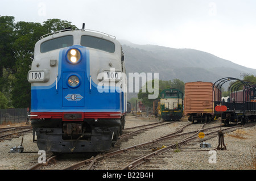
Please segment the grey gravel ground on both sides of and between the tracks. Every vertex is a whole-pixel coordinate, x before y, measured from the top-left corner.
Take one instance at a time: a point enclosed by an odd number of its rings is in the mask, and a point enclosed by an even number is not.
[[[149,117],[135,117],[129,115],[126,117],[125,128],[135,127],[137,125],[151,124],[158,122],[158,119]],[[150,141],[151,138],[164,136],[174,132],[183,125],[189,124],[188,121],[180,121],[168,124],[166,127],[156,127],[153,130],[140,133],[138,136],[129,138],[122,143],[121,148],[140,144]],[[220,121],[210,124],[220,124]],[[192,125],[191,129],[201,125]],[[186,132],[189,130],[186,130]],[[23,137],[24,153],[9,153],[13,146],[19,146]],[[252,169],[255,170],[255,150],[256,150],[256,126],[247,128],[238,128],[236,131],[225,133],[225,145],[228,150],[214,149],[218,146],[218,136],[207,137],[205,142],[209,143],[212,148],[200,148],[200,139],[189,142],[181,146],[179,151],[169,150],[163,153],[159,162],[160,170],[238,170]],[[204,150],[205,149],[205,150]],[[204,150],[204,151],[201,151]],[[209,150],[213,150],[210,151]],[[215,151],[215,152],[214,152]],[[0,142],[0,170],[24,170],[28,169],[39,158],[38,147],[32,142],[32,131],[20,136]],[[216,159],[213,159],[213,158]],[[157,158],[151,160],[154,163]],[[155,160],[155,161],[154,161]],[[215,162],[216,161],[216,162]],[[145,163],[145,164],[150,164]],[[140,169],[138,167],[137,169]]]

